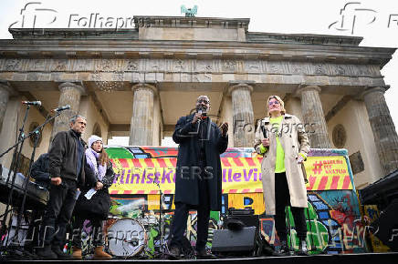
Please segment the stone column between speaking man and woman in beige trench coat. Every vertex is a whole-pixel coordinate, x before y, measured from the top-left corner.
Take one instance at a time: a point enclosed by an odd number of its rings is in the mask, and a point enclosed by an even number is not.
[[[251,93],[253,87],[246,84],[230,86],[228,93],[232,97],[234,147],[253,147],[255,124]]]

